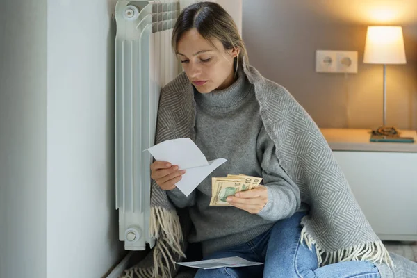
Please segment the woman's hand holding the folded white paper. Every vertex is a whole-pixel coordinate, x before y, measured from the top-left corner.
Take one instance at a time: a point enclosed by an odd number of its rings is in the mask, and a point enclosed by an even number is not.
[[[176,188],[175,183],[179,182],[186,173],[186,170],[178,170],[178,165],[171,165],[166,161],[155,161],[151,164],[151,171],[151,178],[163,190]]]

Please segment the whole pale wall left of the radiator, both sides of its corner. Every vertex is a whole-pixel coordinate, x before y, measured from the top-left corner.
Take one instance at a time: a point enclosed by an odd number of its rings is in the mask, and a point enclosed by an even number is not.
[[[75,2],[0,4],[1,278],[101,277],[122,256],[115,1]]]

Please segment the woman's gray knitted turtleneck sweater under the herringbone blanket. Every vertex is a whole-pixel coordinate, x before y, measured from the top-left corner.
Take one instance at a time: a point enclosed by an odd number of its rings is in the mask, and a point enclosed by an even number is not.
[[[204,256],[245,243],[300,210],[300,190],[287,182],[279,166],[274,142],[259,115],[253,85],[243,71],[229,88],[209,93],[195,90],[195,143],[208,161],[226,158],[186,197],[178,188],[167,195],[175,206],[190,206],[194,227],[190,242],[201,242]],[[257,214],[234,206],[209,206],[211,177],[246,174],[262,177],[268,189],[268,203]],[[304,205],[304,204],[303,204]],[[305,209],[304,206],[301,208]]]

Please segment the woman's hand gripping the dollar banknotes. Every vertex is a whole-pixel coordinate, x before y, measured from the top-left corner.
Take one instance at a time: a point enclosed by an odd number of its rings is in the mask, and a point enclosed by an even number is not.
[[[251,190],[238,192],[234,196],[229,196],[226,201],[236,208],[256,214],[268,202],[268,190],[265,186],[258,186]]]

